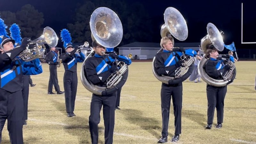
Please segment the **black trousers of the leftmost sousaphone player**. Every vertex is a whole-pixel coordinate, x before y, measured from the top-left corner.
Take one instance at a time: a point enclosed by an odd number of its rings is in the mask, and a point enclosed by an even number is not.
[[[100,110],[103,105],[103,118],[105,126],[105,144],[113,143],[113,132],[115,125],[116,92],[109,96],[92,94],[91,114],[89,117],[92,144],[98,143],[98,124],[100,123]]]

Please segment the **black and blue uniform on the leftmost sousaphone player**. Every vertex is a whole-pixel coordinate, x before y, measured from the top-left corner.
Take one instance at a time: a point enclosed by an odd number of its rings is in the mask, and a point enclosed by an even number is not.
[[[124,61],[127,65],[131,64],[131,60],[124,56],[118,56],[120,61]],[[89,81],[101,87],[106,87],[106,80],[115,69],[114,59],[110,56],[100,56],[94,54],[93,57],[88,58],[85,62],[85,72]],[[103,118],[105,126],[105,144],[113,143],[113,132],[115,124],[115,105],[116,92],[108,95],[92,94],[91,111],[89,117],[90,133],[92,144],[98,143],[98,124],[100,123],[100,110],[103,105]]]

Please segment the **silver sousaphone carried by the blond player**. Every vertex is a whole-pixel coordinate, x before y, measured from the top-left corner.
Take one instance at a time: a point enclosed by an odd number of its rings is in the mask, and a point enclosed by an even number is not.
[[[164,22],[165,22],[165,24],[162,25],[161,31],[160,31],[162,38],[165,36],[168,36],[168,37],[173,36],[180,41],[184,41],[187,39],[188,26],[187,26],[186,20],[184,19],[182,14],[177,9],[175,9],[174,7],[166,8],[166,10],[164,11]],[[172,37],[172,39],[173,39],[173,37]],[[173,42],[174,42],[174,40],[173,40]],[[173,47],[173,48],[175,48],[175,47]],[[162,52],[162,51],[163,51],[163,48],[161,48],[157,53]],[[178,78],[181,78],[182,76],[185,76],[185,74],[188,73],[188,70],[192,68],[191,66],[194,63],[194,59],[193,59],[193,57],[187,56],[184,53],[180,57],[180,59],[184,60],[184,63],[183,63],[184,67],[177,68],[175,70],[175,76],[170,77],[170,76],[159,76],[156,73],[155,57],[154,57],[153,65],[152,65],[152,70],[153,70],[154,76],[159,81],[161,81],[162,83],[165,83],[165,84],[169,84],[169,80],[178,79]],[[187,77],[187,75],[186,75],[186,77]]]

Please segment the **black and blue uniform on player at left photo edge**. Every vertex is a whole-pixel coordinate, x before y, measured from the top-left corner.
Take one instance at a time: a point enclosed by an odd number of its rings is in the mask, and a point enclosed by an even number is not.
[[[11,143],[23,144],[22,119],[24,105],[22,102],[22,75],[42,73],[42,66],[39,60],[33,60],[33,67],[24,67],[22,61],[15,59],[25,48],[25,46],[20,46],[20,48],[0,54],[0,143],[4,123],[7,119],[7,129]]]

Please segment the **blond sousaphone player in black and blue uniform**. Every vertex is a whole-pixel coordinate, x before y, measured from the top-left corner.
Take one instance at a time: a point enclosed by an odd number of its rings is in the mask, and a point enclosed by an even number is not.
[[[156,73],[159,76],[174,76],[174,71],[182,66],[181,60],[179,60],[181,52],[173,52],[173,39],[172,37],[163,37],[161,39],[161,47],[163,52],[156,54]],[[170,114],[171,98],[173,102],[174,110],[174,125],[175,135],[172,137],[172,142],[176,142],[180,139],[181,133],[181,108],[182,108],[182,82],[177,84],[164,84],[161,88],[161,108],[162,108],[162,137],[158,140],[158,143],[167,142],[168,136],[168,124]]]

